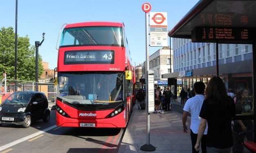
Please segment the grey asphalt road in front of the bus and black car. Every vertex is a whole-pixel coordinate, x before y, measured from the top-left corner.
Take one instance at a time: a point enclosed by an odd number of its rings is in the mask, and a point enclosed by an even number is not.
[[[117,153],[125,129],[56,127],[55,110],[49,122],[38,120],[24,129],[0,127],[0,153]]]

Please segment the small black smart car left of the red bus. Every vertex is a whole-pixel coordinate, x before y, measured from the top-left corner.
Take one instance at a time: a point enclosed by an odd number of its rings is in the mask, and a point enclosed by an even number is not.
[[[0,125],[15,124],[28,128],[32,120],[48,122],[50,110],[42,92],[14,92],[0,105]]]

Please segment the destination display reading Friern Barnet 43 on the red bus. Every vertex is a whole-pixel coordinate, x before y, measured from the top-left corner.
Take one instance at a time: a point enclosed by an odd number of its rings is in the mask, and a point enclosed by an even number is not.
[[[64,64],[114,64],[114,50],[66,51]]]

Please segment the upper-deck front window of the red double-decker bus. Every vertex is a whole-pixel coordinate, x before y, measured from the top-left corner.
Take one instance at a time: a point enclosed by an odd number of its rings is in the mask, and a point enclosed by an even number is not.
[[[60,47],[124,46],[122,27],[115,26],[65,28],[60,40]]]

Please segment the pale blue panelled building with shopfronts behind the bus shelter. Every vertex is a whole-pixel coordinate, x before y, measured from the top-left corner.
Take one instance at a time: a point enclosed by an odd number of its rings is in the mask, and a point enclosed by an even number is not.
[[[163,74],[163,78],[168,78],[170,85],[176,85],[177,96],[181,88],[191,90],[197,81],[207,86],[211,77],[217,75],[217,67],[227,89],[236,93],[246,88],[252,96],[252,45],[218,44],[218,54],[216,46],[216,43],[192,43],[191,39],[173,38],[174,72]]]

